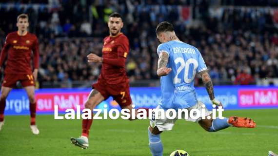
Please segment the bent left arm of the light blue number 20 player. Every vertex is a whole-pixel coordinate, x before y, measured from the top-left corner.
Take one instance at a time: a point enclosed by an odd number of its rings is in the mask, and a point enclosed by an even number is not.
[[[166,52],[159,53],[159,60],[158,60],[158,70],[157,75],[159,77],[168,75],[171,72],[171,68],[167,68],[166,65],[168,63],[169,56]]]

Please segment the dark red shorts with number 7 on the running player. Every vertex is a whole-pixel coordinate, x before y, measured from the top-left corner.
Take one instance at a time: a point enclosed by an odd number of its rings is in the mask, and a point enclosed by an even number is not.
[[[121,108],[132,103],[128,80],[119,84],[107,84],[105,81],[99,79],[97,83],[92,85],[92,87],[93,89],[98,90],[104,99],[112,96],[113,99],[118,102]]]

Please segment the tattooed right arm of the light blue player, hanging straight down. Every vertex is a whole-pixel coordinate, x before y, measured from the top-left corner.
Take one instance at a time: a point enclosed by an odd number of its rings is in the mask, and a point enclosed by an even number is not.
[[[208,92],[211,102],[215,105],[222,106],[221,102],[219,102],[214,97],[213,84],[212,84],[211,78],[208,74],[208,70],[203,70],[199,74],[201,75],[202,81],[204,83],[204,86],[206,87],[206,90]]]

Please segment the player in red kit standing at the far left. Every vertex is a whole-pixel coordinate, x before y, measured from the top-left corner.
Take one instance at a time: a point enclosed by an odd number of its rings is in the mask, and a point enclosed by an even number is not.
[[[36,35],[27,31],[29,26],[28,15],[20,14],[17,18],[18,31],[9,33],[0,55],[0,67],[8,55],[4,72],[4,80],[1,87],[0,97],[0,130],[4,124],[4,109],[6,98],[10,91],[16,86],[17,81],[27,92],[30,102],[31,131],[38,135],[39,129],[36,126],[36,100],[35,81],[39,68],[39,42]],[[34,71],[32,73],[31,56],[33,51]]]

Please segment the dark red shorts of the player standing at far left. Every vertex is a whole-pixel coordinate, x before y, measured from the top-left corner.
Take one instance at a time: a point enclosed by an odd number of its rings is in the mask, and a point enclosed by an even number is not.
[[[5,74],[2,86],[14,88],[20,81],[23,87],[34,86],[35,81],[32,74]]]

